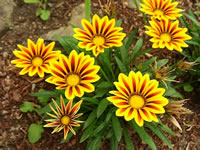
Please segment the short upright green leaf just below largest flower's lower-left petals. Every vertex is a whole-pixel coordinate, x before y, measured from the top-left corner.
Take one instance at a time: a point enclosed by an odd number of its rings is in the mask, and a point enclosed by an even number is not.
[[[119,142],[122,137],[122,128],[121,128],[121,124],[118,118],[115,115],[112,116],[112,128],[113,128],[115,137],[117,141]]]

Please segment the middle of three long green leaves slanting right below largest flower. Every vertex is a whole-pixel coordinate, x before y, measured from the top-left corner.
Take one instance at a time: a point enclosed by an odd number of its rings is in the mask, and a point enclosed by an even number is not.
[[[148,122],[145,122],[145,125],[151,131],[153,131],[153,133],[155,133],[163,142],[165,142],[170,149],[173,149],[172,144],[169,141],[169,139],[166,137],[166,135],[156,125],[154,125],[153,123],[148,123]]]

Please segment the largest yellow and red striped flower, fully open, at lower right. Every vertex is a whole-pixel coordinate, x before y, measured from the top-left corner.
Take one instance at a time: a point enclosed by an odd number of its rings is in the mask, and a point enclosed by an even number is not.
[[[139,126],[143,126],[144,120],[158,122],[155,114],[164,113],[163,106],[168,104],[163,97],[165,89],[158,88],[158,81],[133,71],[128,76],[119,74],[118,80],[114,83],[118,91],[110,91],[115,96],[107,98],[118,107],[116,115],[127,121],[135,119]]]

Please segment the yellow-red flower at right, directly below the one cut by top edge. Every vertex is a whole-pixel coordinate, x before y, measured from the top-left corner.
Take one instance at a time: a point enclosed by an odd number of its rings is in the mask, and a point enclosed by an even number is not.
[[[161,20],[160,22],[153,19],[150,21],[151,26],[145,26],[148,31],[146,34],[152,36],[150,39],[153,42],[153,48],[164,48],[167,47],[169,50],[182,51],[181,47],[188,47],[184,42],[185,40],[191,39],[187,32],[187,28],[179,28],[179,21],[171,22],[171,20]]]

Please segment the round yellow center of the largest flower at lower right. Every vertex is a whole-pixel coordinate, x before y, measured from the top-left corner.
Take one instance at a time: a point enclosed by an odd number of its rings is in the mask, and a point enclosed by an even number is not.
[[[132,108],[140,109],[144,106],[144,98],[140,95],[133,95],[129,98],[129,105]]]

